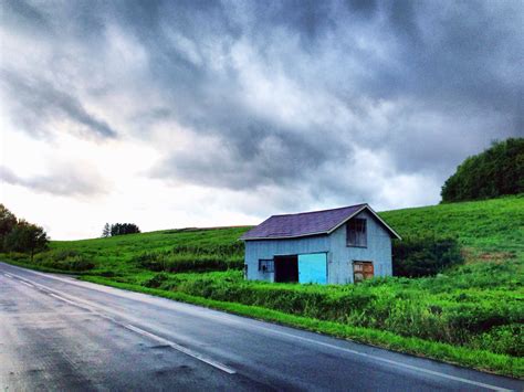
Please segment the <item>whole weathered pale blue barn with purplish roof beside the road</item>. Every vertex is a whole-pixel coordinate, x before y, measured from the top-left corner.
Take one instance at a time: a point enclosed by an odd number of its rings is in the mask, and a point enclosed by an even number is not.
[[[391,239],[368,204],[273,215],[251,229],[245,277],[251,280],[347,284],[392,275]]]

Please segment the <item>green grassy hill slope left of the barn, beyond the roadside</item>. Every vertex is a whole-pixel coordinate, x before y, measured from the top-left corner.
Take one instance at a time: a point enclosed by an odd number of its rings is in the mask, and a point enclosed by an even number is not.
[[[102,275],[107,272],[115,275],[136,274],[144,271],[139,259],[148,256],[165,256],[179,264],[189,264],[187,271],[199,269],[199,265],[203,269],[221,271],[228,269],[231,264],[240,269],[243,264],[243,243],[238,239],[248,229],[181,229],[108,239],[52,241],[50,251],[39,255],[36,262],[60,269],[61,263],[76,258],[94,264],[90,274]]]

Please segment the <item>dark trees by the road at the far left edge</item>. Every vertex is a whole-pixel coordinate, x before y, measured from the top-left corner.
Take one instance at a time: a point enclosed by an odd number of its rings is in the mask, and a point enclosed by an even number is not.
[[[0,252],[30,253],[31,262],[36,252],[48,248],[49,237],[43,227],[18,219],[0,204]]]

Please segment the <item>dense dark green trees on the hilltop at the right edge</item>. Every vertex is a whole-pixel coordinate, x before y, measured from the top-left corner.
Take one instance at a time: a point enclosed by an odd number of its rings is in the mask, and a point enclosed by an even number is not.
[[[495,141],[467,158],[442,187],[442,202],[482,200],[524,192],[524,138]]]

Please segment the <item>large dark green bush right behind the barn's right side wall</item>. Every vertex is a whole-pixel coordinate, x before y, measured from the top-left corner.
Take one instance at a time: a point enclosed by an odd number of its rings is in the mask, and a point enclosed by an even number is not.
[[[459,243],[451,237],[407,237],[392,244],[395,276],[431,276],[462,262]]]

